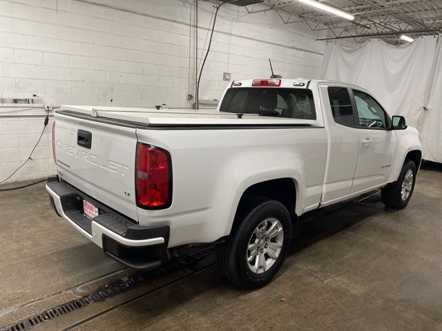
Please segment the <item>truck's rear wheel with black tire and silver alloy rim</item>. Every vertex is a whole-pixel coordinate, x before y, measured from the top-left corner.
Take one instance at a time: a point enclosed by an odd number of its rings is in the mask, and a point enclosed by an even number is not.
[[[245,212],[239,214],[245,216],[217,245],[216,257],[224,277],[251,290],[269,283],[280,269],[290,244],[291,219],[282,203],[265,197],[253,197],[242,208]]]

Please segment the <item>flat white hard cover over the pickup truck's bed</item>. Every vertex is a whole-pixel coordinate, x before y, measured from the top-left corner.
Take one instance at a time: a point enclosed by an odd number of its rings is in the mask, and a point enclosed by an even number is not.
[[[215,109],[161,109],[155,108],[128,108],[128,107],[102,107],[102,106],[70,106],[62,105],[62,110],[101,117],[106,119],[117,119],[139,123],[143,126],[182,126],[182,125],[318,125],[315,120],[309,119],[287,119],[280,117],[264,117],[257,114],[244,114],[238,118],[237,114],[231,112],[218,112]]]

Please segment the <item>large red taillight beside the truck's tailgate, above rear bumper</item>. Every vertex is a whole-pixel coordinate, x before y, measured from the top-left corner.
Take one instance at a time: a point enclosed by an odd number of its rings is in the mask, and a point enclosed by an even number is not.
[[[166,150],[137,143],[135,190],[137,205],[147,209],[171,205],[171,159]]]

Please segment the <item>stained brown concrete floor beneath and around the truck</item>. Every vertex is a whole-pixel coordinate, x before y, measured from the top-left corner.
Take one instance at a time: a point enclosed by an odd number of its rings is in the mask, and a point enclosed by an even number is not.
[[[405,210],[376,194],[307,214],[260,290],[233,287],[208,261],[32,330],[442,330],[441,183],[430,163]],[[43,184],[0,192],[0,210],[0,328],[122,269],[55,216]]]

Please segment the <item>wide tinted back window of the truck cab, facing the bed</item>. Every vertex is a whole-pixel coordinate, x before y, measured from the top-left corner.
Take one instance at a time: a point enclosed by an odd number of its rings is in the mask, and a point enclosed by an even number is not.
[[[229,88],[220,111],[316,119],[313,92],[301,88]]]

